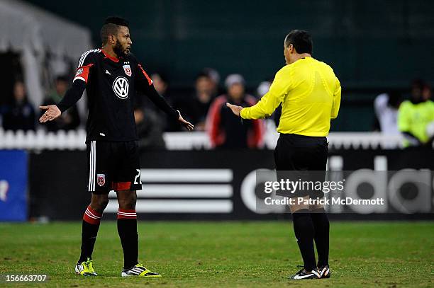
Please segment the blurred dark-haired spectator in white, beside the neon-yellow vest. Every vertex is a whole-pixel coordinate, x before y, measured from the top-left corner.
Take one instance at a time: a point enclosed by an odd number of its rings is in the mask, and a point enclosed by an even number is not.
[[[374,110],[382,133],[399,134],[398,109],[401,102],[401,94],[396,91],[382,93],[375,98]]]

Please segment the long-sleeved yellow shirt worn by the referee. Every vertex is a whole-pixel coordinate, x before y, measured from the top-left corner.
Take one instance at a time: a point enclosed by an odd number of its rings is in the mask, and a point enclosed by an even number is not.
[[[280,69],[269,92],[254,106],[243,108],[243,119],[269,117],[282,103],[277,132],[327,136],[330,119],[338,116],[340,82],[333,69],[312,57],[304,57]]]

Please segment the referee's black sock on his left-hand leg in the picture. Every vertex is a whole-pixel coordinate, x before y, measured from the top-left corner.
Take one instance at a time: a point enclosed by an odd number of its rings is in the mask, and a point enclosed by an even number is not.
[[[311,213],[308,209],[300,209],[292,214],[294,233],[299,244],[304,269],[312,271],[316,269],[315,250],[313,250],[313,236],[315,230]]]

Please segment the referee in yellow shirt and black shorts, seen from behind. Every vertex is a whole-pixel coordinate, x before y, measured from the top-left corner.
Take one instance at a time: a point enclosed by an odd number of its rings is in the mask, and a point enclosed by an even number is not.
[[[250,108],[230,103],[227,106],[243,119],[259,119],[272,115],[282,103],[282,116],[277,127],[280,137],[274,151],[278,176],[279,171],[294,171],[295,175],[319,171],[324,180],[328,156],[325,136],[330,129],[330,119],[338,116],[341,89],[333,69],[313,59],[311,55],[311,35],[304,30],[292,30],[284,40],[286,66],[277,72],[269,92]],[[323,196],[321,190],[301,190],[289,195],[303,197],[304,200]],[[289,205],[289,209],[304,261],[303,269],[291,278],[301,280],[330,277],[329,223],[323,205],[296,202]],[[318,263],[313,250],[314,239]]]

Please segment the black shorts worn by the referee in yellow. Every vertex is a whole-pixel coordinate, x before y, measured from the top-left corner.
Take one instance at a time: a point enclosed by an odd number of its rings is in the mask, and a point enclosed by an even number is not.
[[[280,134],[274,150],[277,180],[312,181],[313,184],[325,180],[328,142],[325,137],[310,137],[298,134]],[[321,186],[322,187],[322,186]],[[318,185],[304,185],[295,192],[277,192],[285,197],[323,197]]]

